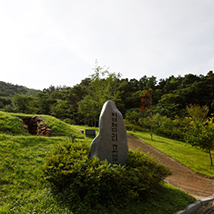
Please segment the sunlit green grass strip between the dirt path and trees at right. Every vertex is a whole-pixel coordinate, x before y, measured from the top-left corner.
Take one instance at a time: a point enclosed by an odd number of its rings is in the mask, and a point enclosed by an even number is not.
[[[130,131],[129,133],[189,167],[195,173],[214,177],[214,167],[210,164],[208,153],[192,147],[189,144],[186,145],[184,142],[157,136],[155,134],[153,134],[153,140],[151,140],[150,133],[138,131]]]

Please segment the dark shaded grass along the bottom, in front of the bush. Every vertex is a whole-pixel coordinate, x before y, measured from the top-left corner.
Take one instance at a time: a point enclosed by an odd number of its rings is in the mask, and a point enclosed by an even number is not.
[[[81,201],[78,203],[77,201],[71,201],[66,194],[57,194],[54,195],[54,198],[56,199],[58,206],[75,214],[173,214],[179,210],[185,209],[189,204],[196,201],[192,196],[167,184],[161,185],[155,194],[148,195],[138,201],[130,201],[130,203],[125,204],[125,206],[106,202],[104,202],[104,204],[91,206],[90,204],[84,204]]]

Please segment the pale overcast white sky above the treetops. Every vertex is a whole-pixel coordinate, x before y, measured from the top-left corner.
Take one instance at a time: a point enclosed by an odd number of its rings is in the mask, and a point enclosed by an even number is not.
[[[0,0],[0,81],[74,86],[214,70],[213,0]]]

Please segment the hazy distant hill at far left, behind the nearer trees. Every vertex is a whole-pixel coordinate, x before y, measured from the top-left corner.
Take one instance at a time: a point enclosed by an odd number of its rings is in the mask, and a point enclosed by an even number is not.
[[[13,85],[11,83],[0,81],[0,97],[10,97],[15,95],[15,93],[25,95],[35,95],[38,92],[40,92],[40,90],[29,89],[25,86]]]

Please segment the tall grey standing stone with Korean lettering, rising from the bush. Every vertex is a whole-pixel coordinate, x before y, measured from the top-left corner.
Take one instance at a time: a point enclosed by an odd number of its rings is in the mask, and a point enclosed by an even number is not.
[[[128,158],[126,128],[123,116],[115,103],[104,103],[99,118],[99,134],[90,146],[90,157],[98,157],[111,164],[124,165]]]

